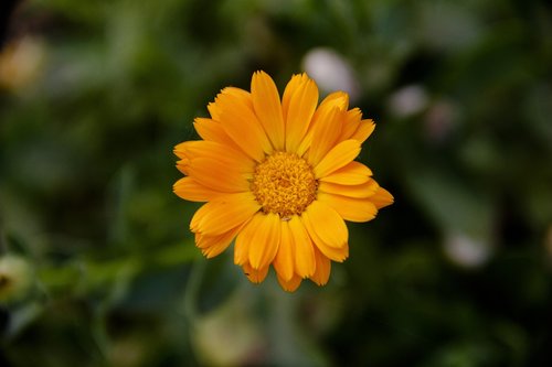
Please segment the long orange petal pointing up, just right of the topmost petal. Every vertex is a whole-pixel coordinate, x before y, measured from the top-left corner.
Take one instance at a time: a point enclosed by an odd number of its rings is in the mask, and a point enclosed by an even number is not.
[[[286,97],[285,93],[284,96]],[[295,87],[289,100],[286,100],[286,151],[295,152],[299,147],[308,130],[317,104],[318,87],[315,82],[309,78],[301,80]]]

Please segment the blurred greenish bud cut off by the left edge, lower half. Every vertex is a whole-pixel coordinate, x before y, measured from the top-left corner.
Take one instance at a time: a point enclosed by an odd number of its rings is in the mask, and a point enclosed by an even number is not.
[[[0,303],[18,301],[26,294],[32,284],[30,263],[22,257],[0,257]]]

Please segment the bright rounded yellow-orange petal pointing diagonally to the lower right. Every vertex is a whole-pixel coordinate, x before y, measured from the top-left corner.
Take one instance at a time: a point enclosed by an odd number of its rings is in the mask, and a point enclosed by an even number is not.
[[[319,193],[320,195],[329,195]],[[306,222],[328,246],[342,248],[349,240],[349,230],[341,216],[325,202],[314,201],[302,213]]]

